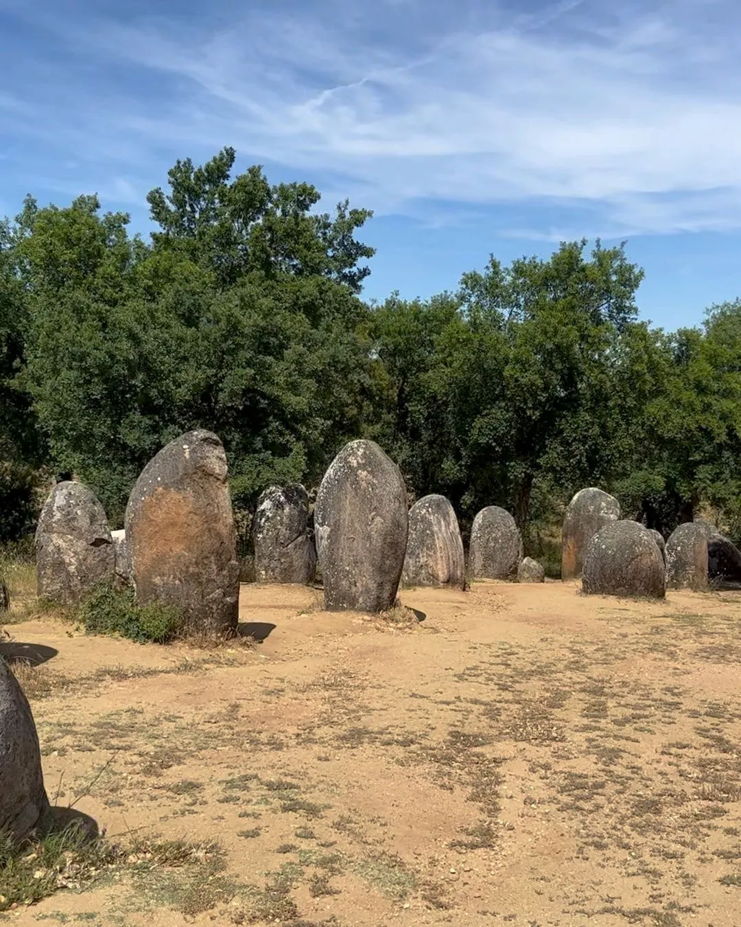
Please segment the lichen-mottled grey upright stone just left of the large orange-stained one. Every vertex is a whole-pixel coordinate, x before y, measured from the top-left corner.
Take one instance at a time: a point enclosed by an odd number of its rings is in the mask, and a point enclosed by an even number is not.
[[[115,553],[106,513],[91,489],[67,480],[52,489],[36,527],[39,598],[78,603],[112,584]]]

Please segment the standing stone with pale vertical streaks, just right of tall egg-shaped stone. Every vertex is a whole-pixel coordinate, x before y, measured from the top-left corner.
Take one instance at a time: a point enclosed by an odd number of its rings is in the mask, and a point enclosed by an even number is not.
[[[466,581],[458,518],[445,496],[424,496],[409,509],[405,586],[458,586]]]

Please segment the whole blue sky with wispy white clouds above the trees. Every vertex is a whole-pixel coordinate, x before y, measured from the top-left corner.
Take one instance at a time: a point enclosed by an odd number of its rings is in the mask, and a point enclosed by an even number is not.
[[[97,192],[148,229],[175,159],[375,217],[366,295],[622,238],[642,315],[741,296],[735,0],[0,0],[0,215]]]

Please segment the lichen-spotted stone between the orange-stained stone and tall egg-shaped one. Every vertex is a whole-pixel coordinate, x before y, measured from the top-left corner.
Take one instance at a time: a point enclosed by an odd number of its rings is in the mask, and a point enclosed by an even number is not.
[[[303,486],[271,486],[262,493],[252,527],[257,582],[314,581],[317,552],[307,523],[308,494]]]

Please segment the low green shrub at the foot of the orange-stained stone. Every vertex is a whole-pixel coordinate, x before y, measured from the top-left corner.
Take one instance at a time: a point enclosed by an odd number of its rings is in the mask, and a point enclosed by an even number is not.
[[[90,634],[120,634],[131,641],[167,643],[182,629],[177,608],[161,603],[137,605],[133,590],[102,587],[80,605],[77,618]]]

